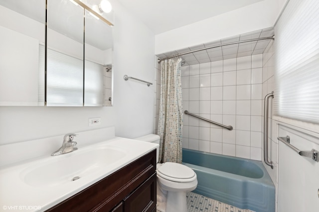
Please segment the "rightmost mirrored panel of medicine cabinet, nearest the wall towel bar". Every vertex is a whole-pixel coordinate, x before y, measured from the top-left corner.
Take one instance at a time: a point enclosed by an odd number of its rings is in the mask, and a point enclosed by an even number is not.
[[[84,106],[112,106],[112,27],[85,10]]]

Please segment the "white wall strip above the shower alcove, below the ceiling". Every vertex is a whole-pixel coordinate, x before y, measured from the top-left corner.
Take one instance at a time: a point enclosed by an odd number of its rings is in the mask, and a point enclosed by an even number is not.
[[[287,0],[263,0],[155,36],[155,53],[273,27]]]

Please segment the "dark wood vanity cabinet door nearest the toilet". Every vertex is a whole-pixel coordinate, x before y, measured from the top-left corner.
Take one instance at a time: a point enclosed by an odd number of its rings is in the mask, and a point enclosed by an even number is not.
[[[125,212],[153,212],[156,208],[156,173],[124,199]]]

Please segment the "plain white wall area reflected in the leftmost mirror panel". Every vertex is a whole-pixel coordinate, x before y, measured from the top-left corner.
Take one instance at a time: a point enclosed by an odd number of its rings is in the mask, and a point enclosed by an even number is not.
[[[0,34],[0,105],[36,106],[39,41],[2,26]]]

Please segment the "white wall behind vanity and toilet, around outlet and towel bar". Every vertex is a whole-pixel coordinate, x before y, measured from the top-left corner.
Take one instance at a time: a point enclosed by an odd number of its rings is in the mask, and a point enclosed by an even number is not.
[[[123,79],[124,74],[154,81],[154,35],[117,1],[114,26],[113,107],[0,107],[0,144],[115,126],[116,136],[152,133],[154,88]],[[88,126],[88,118],[101,125]]]

